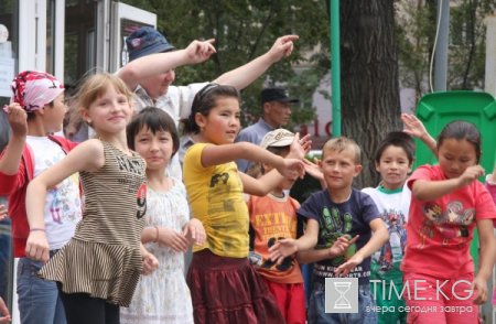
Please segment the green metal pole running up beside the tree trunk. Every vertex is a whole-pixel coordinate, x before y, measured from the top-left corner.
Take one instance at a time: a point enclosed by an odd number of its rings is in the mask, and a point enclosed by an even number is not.
[[[341,136],[341,55],[339,55],[339,0],[331,1],[331,69],[333,137]]]

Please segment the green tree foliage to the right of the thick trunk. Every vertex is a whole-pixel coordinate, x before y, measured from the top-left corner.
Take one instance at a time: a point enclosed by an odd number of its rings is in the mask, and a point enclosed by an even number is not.
[[[438,1],[396,1],[400,82],[430,91],[429,64],[433,51]],[[450,9],[448,89],[483,89],[485,76],[484,18],[496,10],[494,0],[453,1]]]

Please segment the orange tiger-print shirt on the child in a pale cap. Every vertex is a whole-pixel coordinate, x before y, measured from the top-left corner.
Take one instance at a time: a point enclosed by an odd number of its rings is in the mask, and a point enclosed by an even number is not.
[[[248,210],[250,213],[250,241],[254,249],[250,260],[257,271],[270,281],[278,283],[303,282],[300,266],[294,256],[288,257],[281,264],[269,260],[269,247],[278,239],[296,238],[296,210],[300,204],[284,195],[278,198],[271,194],[265,197],[250,196]]]

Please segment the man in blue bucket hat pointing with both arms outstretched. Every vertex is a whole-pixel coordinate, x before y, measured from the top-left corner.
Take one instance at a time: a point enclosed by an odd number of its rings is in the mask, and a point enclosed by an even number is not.
[[[285,35],[277,39],[267,53],[238,68],[226,72],[214,82],[230,85],[238,89],[245,88],[273,63],[290,55],[293,50],[293,41],[296,40],[298,35]],[[192,43],[186,48],[190,48],[190,51],[176,51],[180,53],[168,55],[172,54],[171,51],[174,50],[174,46],[153,28],[144,26],[130,34],[126,40],[130,63],[117,74],[134,91],[137,110],[147,106],[155,106],[169,112],[176,125],[180,119],[187,118],[194,96],[207,83],[172,86],[171,84],[175,79],[174,68],[207,60],[209,55],[215,53],[213,42],[214,40],[197,42],[191,48]],[[169,173],[171,176],[182,179],[176,155],[171,161]]]

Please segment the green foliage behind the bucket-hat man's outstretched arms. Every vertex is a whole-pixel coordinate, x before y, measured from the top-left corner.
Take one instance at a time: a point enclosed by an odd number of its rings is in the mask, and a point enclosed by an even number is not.
[[[293,54],[274,64],[242,91],[245,122],[260,114],[263,83],[284,84],[300,98],[293,122],[314,118],[312,95],[330,69],[330,32],[326,1],[298,0],[126,0],[157,13],[158,30],[176,47],[215,37],[217,54],[198,66],[176,69],[176,84],[215,79],[266,53],[284,34],[298,34]],[[316,48],[316,50],[315,50]],[[309,53],[312,53],[310,55]],[[304,66],[295,69],[295,66]]]

